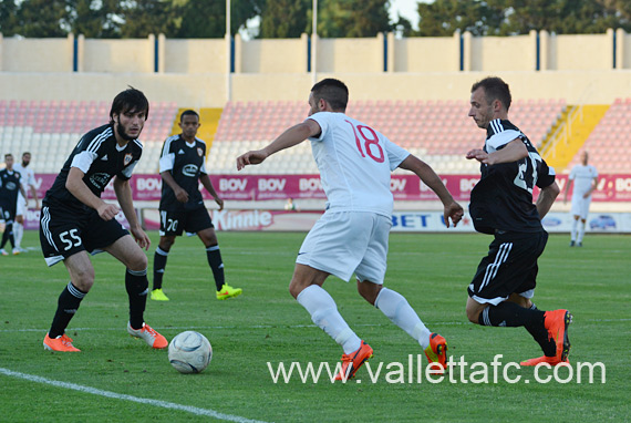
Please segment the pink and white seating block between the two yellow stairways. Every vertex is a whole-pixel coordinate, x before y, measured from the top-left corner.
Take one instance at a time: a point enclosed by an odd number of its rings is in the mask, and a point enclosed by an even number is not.
[[[535,144],[540,144],[565,110],[565,101],[518,101],[510,116]],[[467,117],[466,101],[356,101],[348,114],[370,123],[393,142],[430,163],[441,174],[476,174],[478,164],[464,154],[482,145],[484,133]],[[211,172],[234,173],[234,158],[258,148],[285,128],[304,120],[304,102],[230,102],[226,105],[210,156]],[[273,171],[265,173],[314,173],[309,145],[281,153]],[[252,168],[250,172],[262,172]]]

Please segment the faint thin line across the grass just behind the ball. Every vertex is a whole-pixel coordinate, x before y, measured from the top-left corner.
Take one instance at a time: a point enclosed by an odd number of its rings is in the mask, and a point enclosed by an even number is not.
[[[586,319],[586,320],[581,320],[582,322],[586,323],[593,323],[593,322],[625,322],[625,321],[631,321],[631,319]],[[353,327],[387,327],[391,326],[392,323],[358,323],[358,324],[353,324]],[[459,326],[459,324],[470,324],[469,322],[466,321],[433,321],[432,322],[433,326]],[[186,326],[186,327],[163,327],[163,328],[158,328],[155,327],[154,329],[158,329],[158,330],[195,330],[195,329],[227,329],[227,330],[234,330],[234,329],[276,329],[276,328],[281,328],[281,329],[300,329],[300,328],[317,328],[316,324],[252,324],[252,326]],[[124,329],[124,328],[123,328]],[[121,328],[71,328],[69,329],[69,331],[75,331],[75,330],[99,330],[99,331],[104,331],[104,330],[123,330]],[[19,332],[45,332],[48,329],[0,329],[0,333],[19,333]]]

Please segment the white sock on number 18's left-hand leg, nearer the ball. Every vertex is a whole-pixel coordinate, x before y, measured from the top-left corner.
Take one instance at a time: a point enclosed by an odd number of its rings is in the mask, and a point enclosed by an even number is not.
[[[362,345],[362,340],[344,321],[335,300],[324,289],[311,285],[298,295],[297,300],[309,311],[313,323],[342,345],[344,354],[350,354]]]

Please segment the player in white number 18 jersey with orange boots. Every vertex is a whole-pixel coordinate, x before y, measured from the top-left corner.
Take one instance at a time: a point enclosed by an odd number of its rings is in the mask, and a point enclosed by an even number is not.
[[[447,227],[449,219],[454,226],[461,220],[463,208],[427,164],[371,126],[346,116],[348,99],[349,91],[341,81],[320,81],[309,95],[309,117],[267,147],[239,156],[237,169],[260,164],[307,138],[311,141],[328,198],[327,210],[300,247],[289,291],[312,321],[344,350],[337,380],[352,378],[373,350],[351,330],[333,298],[322,289],[329,275],[349,281],[354,272],[359,293],[413,337],[432,365],[444,369],[445,339],[423,324],[403,296],[383,287],[392,227],[391,171],[412,171],[432,188],[444,205]]]

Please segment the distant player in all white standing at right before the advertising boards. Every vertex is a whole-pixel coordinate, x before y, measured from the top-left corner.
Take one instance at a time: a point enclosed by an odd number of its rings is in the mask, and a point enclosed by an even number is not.
[[[568,200],[568,194],[572,186],[572,182],[575,183],[572,208],[570,210],[575,217],[575,221],[572,221],[570,247],[573,247],[575,245],[582,247],[587,214],[589,213],[589,205],[591,204],[591,193],[598,185],[598,171],[596,171],[596,167],[592,165],[587,164],[588,158],[588,153],[582,152],[580,155],[581,164],[572,167],[566,187],[565,203]],[[580,226],[578,225],[579,219]]]

